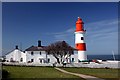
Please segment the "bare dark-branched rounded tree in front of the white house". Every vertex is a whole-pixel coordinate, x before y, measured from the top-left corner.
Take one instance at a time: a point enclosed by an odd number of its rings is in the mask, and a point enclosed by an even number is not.
[[[62,63],[63,58],[66,55],[70,56],[71,54],[73,54],[73,51],[74,48],[69,46],[69,44],[65,41],[58,41],[46,47],[46,52],[48,54],[52,54],[57,59],[58,63]]]

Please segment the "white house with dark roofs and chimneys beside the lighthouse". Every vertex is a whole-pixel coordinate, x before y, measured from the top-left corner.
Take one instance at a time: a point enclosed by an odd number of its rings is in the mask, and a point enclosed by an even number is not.
[[[78,62],[77,51],[74,51],[70,57],[67,57],[67,62]],[[45,46],[41,46],[41,41],[38,41],[38,46],[31,46],[25,51],[21,51],[16,48],[6,54],[7,62],[19,62],[19,63],[55,63],[56,58],[53,55],[48,55],[45,51]]]

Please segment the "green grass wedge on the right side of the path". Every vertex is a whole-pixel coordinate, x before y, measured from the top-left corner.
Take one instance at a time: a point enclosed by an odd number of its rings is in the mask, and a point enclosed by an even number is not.
[[[61,68],[69,72],[87,74],[108,80],[118,80],[120,69]],[[113,79],[117,78],[117,79]]]

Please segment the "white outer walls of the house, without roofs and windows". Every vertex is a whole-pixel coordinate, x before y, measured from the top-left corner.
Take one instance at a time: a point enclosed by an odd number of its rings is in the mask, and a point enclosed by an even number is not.
[[[56,58],[53,55],[47,55],[45,51],[41,51],[41,55],[40,51],[33,51],[33,55],[31,55],[31,51],[25,51],[24,53],[18,49],[15,49],[6,55],[6,60],[10,61],[11,58],[13,58],[14,61],[18,61],[20,63],[31,61],[31,59],[34,59],[33,63],[40,63],[40,59],[42,59],[42,63],[47,62],[48,59],[50,59],[49,63],[57,62]],[[22,62],[20,61],[21,58],[23,58]],[[72,58],[74,58],[75,63],[78,62],[77,51],[74,51],[74,55],[70,56],[71,60]]]

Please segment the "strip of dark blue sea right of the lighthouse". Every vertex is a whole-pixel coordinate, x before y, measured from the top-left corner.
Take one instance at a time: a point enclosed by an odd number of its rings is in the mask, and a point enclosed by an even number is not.
[[[115,60],[120,61],[120,55],[114,55]],[[87,55],[88,60],[100,59],[100,60],[114,60],[113,55]]]

